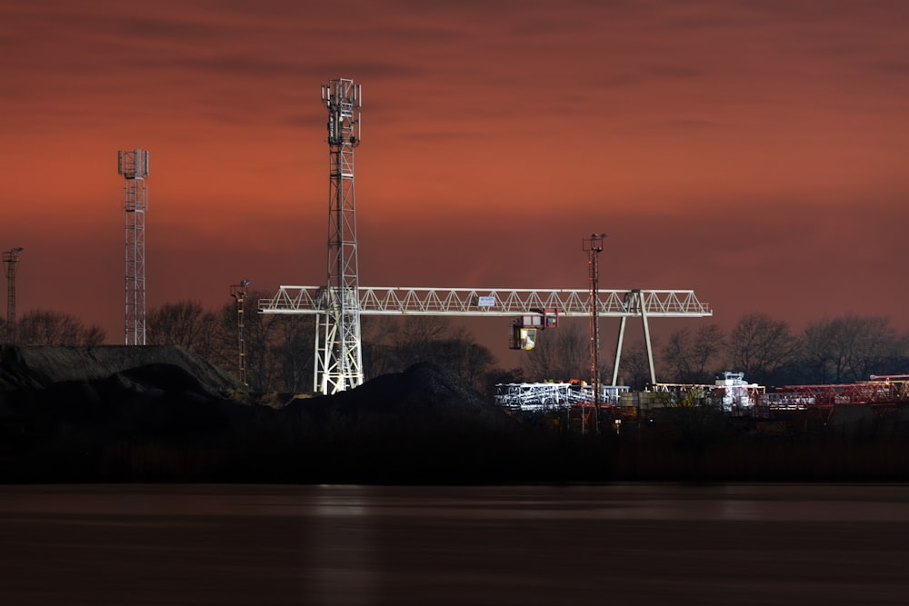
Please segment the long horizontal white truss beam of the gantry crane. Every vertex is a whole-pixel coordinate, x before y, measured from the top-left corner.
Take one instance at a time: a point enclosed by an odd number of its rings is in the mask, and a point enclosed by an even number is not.
[[[359,312],[365,315],[514,316],[558,310],[563,317],[589,317],[589,290],[385,288],[361,286]],[[694,291],[601,290],[598,314],[605,317],[692,318],[713,315]],[[261,313],[329,313],[324,286],[281,286],[275,297],[259,299]]]

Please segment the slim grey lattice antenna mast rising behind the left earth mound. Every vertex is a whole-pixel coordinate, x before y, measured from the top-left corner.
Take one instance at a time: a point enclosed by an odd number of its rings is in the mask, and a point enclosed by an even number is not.
[[[148,190],[148,152],[141,149],[117,153],[117,174],[124,178],[125,221],[125,322],[127,345],[145,345],[145,209]]]

